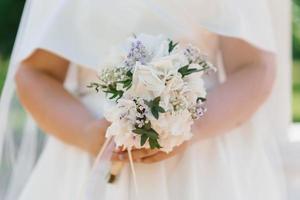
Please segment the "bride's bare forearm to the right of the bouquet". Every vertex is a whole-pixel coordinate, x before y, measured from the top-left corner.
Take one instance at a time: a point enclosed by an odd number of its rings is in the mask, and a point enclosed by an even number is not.
[[[207,112],[194,125],[199,139],[221,135],[247,121],[267,99],[274,66],[247,65],[232,73],[207,97]]]

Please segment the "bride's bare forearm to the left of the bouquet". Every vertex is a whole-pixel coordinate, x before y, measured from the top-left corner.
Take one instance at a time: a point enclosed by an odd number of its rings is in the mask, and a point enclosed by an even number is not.
[[[91,151],[88,145],[95,137],[87,135],[85,129],[96,119],[87,109],[50,75],[26,69],[19,73],[16,78],[19,98],[39,126],[65,143]],[[102,133],[106,126],[103,122]]]

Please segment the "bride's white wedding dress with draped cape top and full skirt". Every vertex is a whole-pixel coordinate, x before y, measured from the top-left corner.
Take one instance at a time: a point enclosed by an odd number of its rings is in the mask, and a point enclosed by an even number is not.
[[[17,56],[22,60],[35,49],[43,48],[69,59],[72,65],[66,88],[97,117],[102,116],[104,97],[88,90],[86,85],[96,78],[106,49],[122,42],[132,32],[167,34],[200,46],[218,66],[218,74],[206,80],[209,90],[226,81],[218,46],[220,34],[238,37],[262,50],[276,50],[270,37],[266,2],[99,2],[53,1],[48,3],[49,9],[42,9],[43,5],[36,3],[38,9],[29,16],[27,24],[31,28],[23,33],[27,40]],[[239,128],[199,141],[182,155],[150,165],[135,164],[140,199],[286,199],[278,137],[274,133],[276,124],[266,121],[270,105],[260,108]],[[6,199],[137,199],[129,166],[122,170],[115,184],[99,188],[101,194],[83,197],[92,164],[93,159],[87,153],[48,136],[26,184],[19,188],[20,195],[10,194]]]

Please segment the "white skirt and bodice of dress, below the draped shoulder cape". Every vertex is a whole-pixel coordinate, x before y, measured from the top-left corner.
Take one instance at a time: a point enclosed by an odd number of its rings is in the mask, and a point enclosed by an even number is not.
[[[103,108],[95,105],[101,105],[103,97],[94,91],[87,93],[86,88],[96,72],[77,70],[81,101],[101,116]],[[210,79],[209,84],[213,89],[218,84],[217,77]],[[200,141],[183,155],[157,164],[135,164],[141,199],[284,199],[279,172],[271,167],[266,155],[264,140],[268,136],[257,129],[254,121],[224,136]],[[20,200],[78,199],[91,161],[83,151],[50,137]],[[129,166],[115,184],[108,184],[101,191],[105,191],[101,200],[135,199]]]

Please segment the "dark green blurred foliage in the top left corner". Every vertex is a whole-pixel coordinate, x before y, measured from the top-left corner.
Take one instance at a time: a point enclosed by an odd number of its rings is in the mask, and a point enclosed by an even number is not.
[[[0,0],[0,55],[10,55],[25,0]]]

